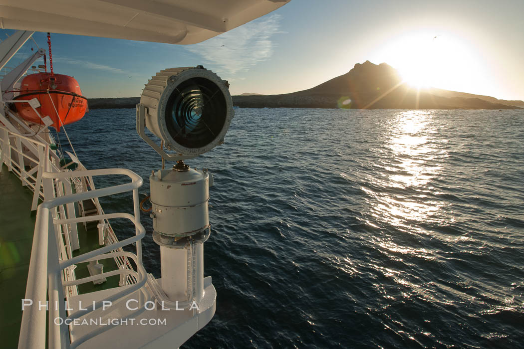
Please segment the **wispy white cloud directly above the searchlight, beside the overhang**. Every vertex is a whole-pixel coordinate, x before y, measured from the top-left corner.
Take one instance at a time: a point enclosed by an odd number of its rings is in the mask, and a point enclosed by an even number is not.
[[[271,37],[282,32],[281,19],[282,16],[274,14],[186,48],[226,73],[246,71],[271,57],[276,47]]]

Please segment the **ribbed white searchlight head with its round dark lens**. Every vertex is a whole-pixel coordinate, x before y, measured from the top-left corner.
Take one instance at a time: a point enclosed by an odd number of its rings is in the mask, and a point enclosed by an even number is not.
[[[190,159],[224,142],[234,116],[229,84],[201,65],[152,76],[137,105],[137,131],[168,160]],[[144,126],[163,142],[158,146]]]

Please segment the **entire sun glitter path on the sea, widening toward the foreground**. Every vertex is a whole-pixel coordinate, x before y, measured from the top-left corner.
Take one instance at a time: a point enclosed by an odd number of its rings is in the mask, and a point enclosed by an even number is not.
[[[375,138],[358,149],[363,154],[354,161],[358,167],[349,166],[350,174],[340,174],[352,190],[360,188],[357,197],[366,201],[358,210],[351,207],[358,224],[344,234],[352,241],[348,245],[361,246],[363,253],[352,248],[342,256],[324,254],[337,277],[350,279],[357,289],[371,283],[374,291],[362,295],[369,316],[381,317],[385,328],[409,338],[416,330],[406,320],[411,314],[402,314],[406,304],[411,309],[482,309],[475,316],[518,309],[518,299],[507,297],[494,283],[468,277],[482,275],[477,265],[485,258],[481,249],[488,247],[462,229],[467,224],[454,214],[454,171],[463,166],[454,152],[461,145],[450,134],[454,130],[445,129],[450,124],[439,113],[384,111],[372,119],[369,134]],[[428,323],[429,319],[431,315],[420,316]],[[434,336],[430,329],[422,325],[417,330]]]

